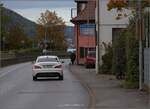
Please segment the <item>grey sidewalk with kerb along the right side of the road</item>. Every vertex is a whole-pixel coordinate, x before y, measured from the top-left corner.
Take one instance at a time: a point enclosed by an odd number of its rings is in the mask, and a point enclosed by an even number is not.
[[[95,94],[95,109],[150,109],[148,94],[136,89],[124,89],[120,81],[109,75],[96,75],[95,69],[70,65]]]

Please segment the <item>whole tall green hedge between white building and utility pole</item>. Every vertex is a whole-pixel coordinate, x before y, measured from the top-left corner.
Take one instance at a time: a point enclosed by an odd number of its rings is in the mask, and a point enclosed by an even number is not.
[[[131,19],[127,29],[113,40],[112,47],[106,48],[100,67],[101,73],[124,79],[127,88],[137,88],[139,83],[139,43],[135,33],[135,19]]]

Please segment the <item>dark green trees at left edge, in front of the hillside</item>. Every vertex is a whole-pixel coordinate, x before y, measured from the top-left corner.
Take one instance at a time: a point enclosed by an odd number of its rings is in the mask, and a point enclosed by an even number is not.
[[[27,37],[23,25],[19,22],[12,23],[12,16],[5,13],[3,4],[0,4],[0,13],[0,50],[7,51],[31,48],[31,38]]]

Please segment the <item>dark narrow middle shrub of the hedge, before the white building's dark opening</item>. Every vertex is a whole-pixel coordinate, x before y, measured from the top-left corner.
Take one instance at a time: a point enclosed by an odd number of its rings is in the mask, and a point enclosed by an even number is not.
[[[124,79],[126,72],[126,35],[121,30],[113,41],[113,62],[112,72],[117,79]]]

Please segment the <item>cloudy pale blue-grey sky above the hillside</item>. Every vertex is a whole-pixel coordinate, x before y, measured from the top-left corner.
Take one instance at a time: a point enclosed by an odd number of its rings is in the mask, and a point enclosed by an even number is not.
[[[67,25],[71,25],[71,8],[76,7],[74,0],[1,0],[1,3],[34,22],[37,22],[41,12],[56,11]]]

